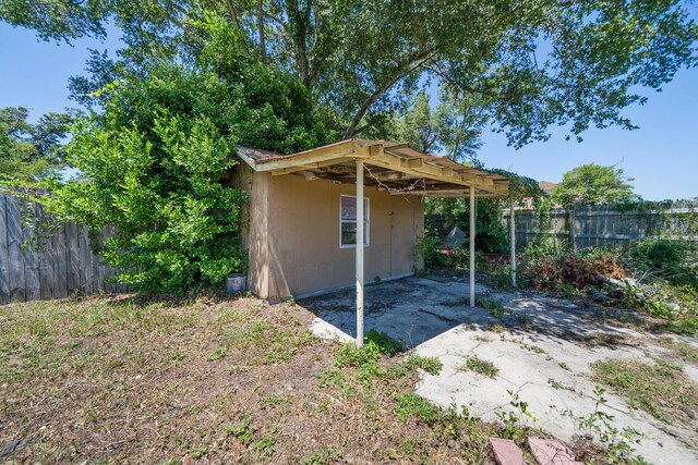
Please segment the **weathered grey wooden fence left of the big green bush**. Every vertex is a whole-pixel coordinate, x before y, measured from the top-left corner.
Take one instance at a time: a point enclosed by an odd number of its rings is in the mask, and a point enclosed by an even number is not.
[[[108,282],[113,271],[92,252],[86,228],[56,223],[37,243],[36,218],[47,218],[40,206],[0,193],[0,303],[125,291]],[[108,234],[92,241],[99,245]]]

